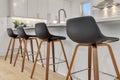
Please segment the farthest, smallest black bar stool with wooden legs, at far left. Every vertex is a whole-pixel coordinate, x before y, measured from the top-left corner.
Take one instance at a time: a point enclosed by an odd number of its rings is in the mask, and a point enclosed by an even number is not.
[[[10,56],[10,64],[12,63],[12,58],[13,58],[13,52],[14,52],[14,46],[15,46],[15,41],[16,39],[19,40],[19,42],[21,41],[20,38],[18,37],[17,34],[15,34],[13,32],[13,30],[11,28],[7,28],[7,33],[8,33],[8,36],[11,38],[10,41],[9,41],[9,45],[8,45],[8,48],[7,48],[7,52],[6,52],[6,55],[5,55],[5,60],[7,60],[7,56],[8,56],[8,53],[9,53],[9,50],[11,48],[11,56]],[[21,53],[22,53],[22,47],[21,47]]]

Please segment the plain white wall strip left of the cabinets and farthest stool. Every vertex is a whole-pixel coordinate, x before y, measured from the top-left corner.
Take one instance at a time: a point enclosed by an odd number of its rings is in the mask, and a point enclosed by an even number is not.
[[[5,54],[8,43],[8,36],[6,33],[8,15],[8,0],[0,0],[0,54]]]

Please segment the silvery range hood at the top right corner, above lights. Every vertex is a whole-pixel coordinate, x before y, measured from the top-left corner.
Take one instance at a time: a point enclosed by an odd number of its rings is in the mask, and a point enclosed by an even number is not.
[[[119,6],[120,3],[115,3],[114,0],[104,0],[104,1],[100,2],[98,5],[93,6],[93,7],[98,8],[98,9],[104,9],[105,7],[110,8],[113,5]]]

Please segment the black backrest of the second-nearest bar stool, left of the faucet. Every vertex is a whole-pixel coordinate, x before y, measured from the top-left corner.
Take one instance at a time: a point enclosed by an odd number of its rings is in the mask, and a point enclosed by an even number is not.
[[[35,24],[35,33],[40,39],[48,39],[51,37],[51,34],[49,33],[45,23]]]

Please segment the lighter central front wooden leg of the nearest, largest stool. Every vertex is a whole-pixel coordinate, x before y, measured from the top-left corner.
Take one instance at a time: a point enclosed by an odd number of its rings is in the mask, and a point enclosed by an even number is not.
[[[99,80],[99,67],[98,67],[98,54],[97,54],[97,46],[93,47],[93,68],[94,68],[94,80]]]

